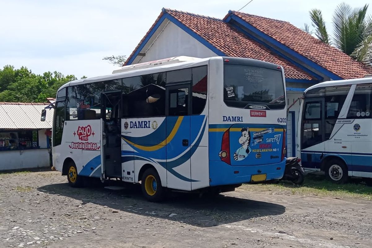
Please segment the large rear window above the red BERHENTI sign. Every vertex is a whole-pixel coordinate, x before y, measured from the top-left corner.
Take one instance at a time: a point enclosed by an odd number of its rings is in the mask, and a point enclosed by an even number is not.
[[[282,72],[247,65],[224,65],[224,102],[229,107],[247,109],[260,105],[283,109],[285,94]]]

